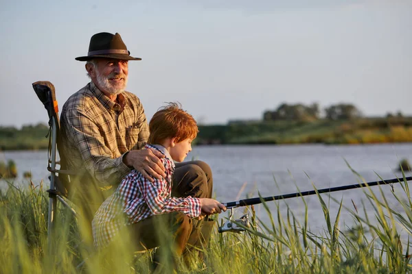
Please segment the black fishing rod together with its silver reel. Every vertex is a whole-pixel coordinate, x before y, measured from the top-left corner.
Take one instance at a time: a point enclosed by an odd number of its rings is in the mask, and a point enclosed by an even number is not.
[[[336,186],[334,188],[322,188],[319,190],[310,190],[310,191],[304,191],[304,192],[295,192],[295,193],[290,193],[290,194],[285,194],[285,195],[277,195],[277,196],[271,196],[271,197],[256,197],[256,198],[250,198],[250,199],[243,199],[239,201],[229,201],[228,203],[222,203],[223,205],[226,206],[229,210],[231,210],[231,214],[229,217],[229,220],[222,225],[222,227],[218,227],[218,232],[241,232],[244,231],[244,227],[249,227],[249,221],[247,215],[242,216],[242,218],[232,221],[231,216],[233,215],[233,208],[238,208],[241,206],[252,206],[256,205],[258,203],[263,203],[266,201],[276,201],[276,200],[283,200],[283,199],[289,199],[289,198],[296,198],[296,197],[304,197],[308,195],[315,195],[317,193],[329,193],[329,192],[335,192],[335,191],[341,191],[341,190],[349,190],[349,189],[354,189],[354,188],[365,188],[367,186],[381,186],[381,185],[387,185],[387,184],[395,184],[399,182],[408,182],[412,181],[412,177],[405,177],[404,179],[387,179],[384,181],[375,181],[375,182],[367,182],[367,183],[362,183],[362,184],[350,184],[347,186]],[[238,225],[240,224],[240,226]]]

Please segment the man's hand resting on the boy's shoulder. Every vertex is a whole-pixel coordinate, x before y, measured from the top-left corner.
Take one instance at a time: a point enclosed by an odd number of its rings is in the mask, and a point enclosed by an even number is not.
[[[163,153],[155,149],[139,149],[128,151],[123,157],[123,162],[130,168],[133,167],[139,171],[150,182],[166,177],[165,167],[160,158],[164,158]]]

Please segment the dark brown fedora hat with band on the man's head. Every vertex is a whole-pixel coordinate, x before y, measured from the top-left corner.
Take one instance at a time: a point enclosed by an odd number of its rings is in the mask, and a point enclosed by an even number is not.
[[[80,56],[75,59],[87,61],[98,57],[119,60],[141,60],[141,58],[130,56],[130,51],[124,45],[120,34],[109,34],[108,32],[100,32],[91,36],[87,56]]]

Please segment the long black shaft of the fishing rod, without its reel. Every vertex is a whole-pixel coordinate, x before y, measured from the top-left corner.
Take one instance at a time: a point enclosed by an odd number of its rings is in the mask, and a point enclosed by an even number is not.
[[[369,182],[369,183],[363,183],[363,184],[351,184],[348,186],[336,186],[334,188],[322,188],[319,190],[296,192],[296,193],[277,195],[277,196],[272,196],[272,197],[262,197],[262,198],[257,197],[257,198],[251,198],[251,199],[243,199],[239,201],[230,201],[229,203],[222,203],[222,204],[224,204],[227,208],[238,208],[240,206],[251,206],[251,205],[258,204],[258,203],[263,203],[264,201],[275,201],[275,200],[289,199],[289,198],[295,198],[295,197],[303,197],[303,196],[308,196],[308,195],[315,195],[317,193],[321,194],[325,192],[335,192],[335,191],[348,190],[348,189],[353,189],[353,188],[364,188],[365,186],[378,186],[378,185],[394,184],[398,182],[407,182],[407,181],[412,181],[412,177],[406,177],[405,179],[403,178],[387,179],[385,181],[376,181],[376,182]]]

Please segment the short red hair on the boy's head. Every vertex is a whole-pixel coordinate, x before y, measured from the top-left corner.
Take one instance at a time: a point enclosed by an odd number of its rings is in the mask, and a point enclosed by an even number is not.
[[[182,110],[180,103],[168,103],[159,108],[149,123],[150,144],[161,144],[166,138],[176,138],[181,142],[192,140],[198,134],[198,127],[193,116]]]

